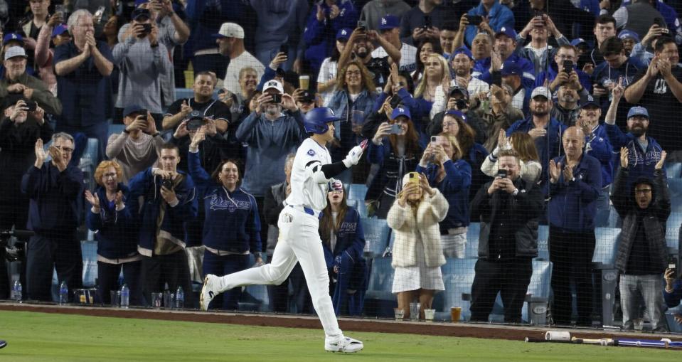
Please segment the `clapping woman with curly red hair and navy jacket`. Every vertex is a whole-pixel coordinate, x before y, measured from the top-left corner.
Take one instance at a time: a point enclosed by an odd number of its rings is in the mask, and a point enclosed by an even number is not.
[[[97,298],[111,303],[112,290],[119,289],[119,275],[130,291],[130,305],[139,305],[139,276],[142,255],[137,252],[137,200],[129,200],[129,189],[121,181],[123,169],[116,161],[102,161],[95,169],[97,190],[85,191],[90,210],[87,228],[96,231]]]

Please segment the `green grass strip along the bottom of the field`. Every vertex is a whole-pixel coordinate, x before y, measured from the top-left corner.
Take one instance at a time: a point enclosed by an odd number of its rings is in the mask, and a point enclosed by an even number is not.
[[[353,333],[365,349],[324,351],[313,329],[0,312],[0,361],[674,361],[682,351]],[[646,335],[643,335],[646,338]]]

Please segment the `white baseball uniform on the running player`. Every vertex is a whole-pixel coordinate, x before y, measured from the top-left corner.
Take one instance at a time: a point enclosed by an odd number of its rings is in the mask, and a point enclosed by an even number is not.
[[[327,203],[327,183],[319,170],[330,164],[329,150],[313,139],[305,139],[292,167],[292,192],[277,220],[279,239],[270,264],[220,277],[219,292],[250,284],[282,284],[301,263],[313,306],[326,339],[343,336],[329,297],[329,274],[319,236],[319,216]]]

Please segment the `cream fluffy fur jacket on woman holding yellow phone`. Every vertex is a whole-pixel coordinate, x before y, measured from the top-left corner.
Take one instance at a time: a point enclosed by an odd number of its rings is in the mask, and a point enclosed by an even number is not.
[[[416,215],[409,205],[400,206],[397,200],[388,211],[386,221],[395,233],[392,267],[417,265],[417,243],[415,243],[417,238],[421,238],[424,243],[427,267],[439,267],[445,264],[438,223],[447,215],[448,204],[437,188],[433,190],[433,196],[425,195],[419,203]]]

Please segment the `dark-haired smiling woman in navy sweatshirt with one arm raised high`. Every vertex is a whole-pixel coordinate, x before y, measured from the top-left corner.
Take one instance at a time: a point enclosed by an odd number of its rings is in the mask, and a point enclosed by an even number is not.
[[[212,175],[201,167],[199,144],[206,137],[206,126],[194,134],[189,145],[189,174],[203,198],[206,218],[203,223],[203,275],[228,275],[245,270],[249,265],[249,254],[253,253],[256,264],[262,264],[260,257],[260,218],[253,196],[239,188],[240,174],[237,161],[220,162]],[[239,309],[241,288],[234,288],[215,297],[211,307]],[[218,300],[218,302],[215,302]]]

